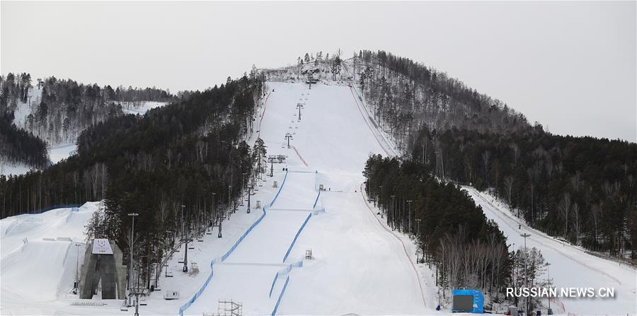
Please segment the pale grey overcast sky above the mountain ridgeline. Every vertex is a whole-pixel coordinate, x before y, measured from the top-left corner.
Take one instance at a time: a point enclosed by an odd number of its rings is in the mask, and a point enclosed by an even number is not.
[[[0,71],[204,89],[305,52],[385,49],[556,134],[637,141],[636,2],[9,2]]]

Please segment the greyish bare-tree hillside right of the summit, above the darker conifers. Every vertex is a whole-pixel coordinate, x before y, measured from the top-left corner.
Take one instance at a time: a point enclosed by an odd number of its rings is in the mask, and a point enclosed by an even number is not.
[[[409,138],[423,127],[498,133],[529,127],[524,115],[502,101],[411,59],[362,50],[348,62],[374,119],[396,139],[402,153],[413,149]]]

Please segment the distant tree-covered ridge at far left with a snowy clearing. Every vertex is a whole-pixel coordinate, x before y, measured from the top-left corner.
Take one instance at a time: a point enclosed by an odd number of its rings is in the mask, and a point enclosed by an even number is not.
[[[179,93],[185,95],[188,93]],[[173,102],[178,96],[159,88],[100,87],[54,76],[33,82],[30,74],[0,77],[0,110],[6,117],[25,112],[20,128],[50,146],[74,142],[92,124],[122,115],[122,104],[141,101]],[[23,108],[20,108],[23,107]]]

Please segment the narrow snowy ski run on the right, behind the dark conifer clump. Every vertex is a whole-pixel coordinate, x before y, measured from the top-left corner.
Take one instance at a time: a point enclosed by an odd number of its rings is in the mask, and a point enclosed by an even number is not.
[[[561,298],[551,302],[555,312],[578,315],[637,315],[637,271],[633,267],[587,254],[583,249],[556,240],[527,226],[515,218],[493,197],[464,187],[472,199],[482,206],[487,218],[493,219],[507,237],[513,249],[524,247],[522,233],[529,233],[527,247],[541,250],[551,263],[551,286],[557,288],[614,288],[614,299]],[[522,228],[518,228],[521,225]],[[548,276],[541,276],[546,279]],[[546,305],[548,303],[545,302]]]

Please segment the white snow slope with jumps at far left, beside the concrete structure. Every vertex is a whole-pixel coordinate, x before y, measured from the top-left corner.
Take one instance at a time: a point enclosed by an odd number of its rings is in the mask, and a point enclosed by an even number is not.
[[[89,202],[0,221],[2,315],[14,308],[27,315],[54,311],[47,302],[73,289],[78,255],[79,262],[84,258],[84,226],[98,207]]]

